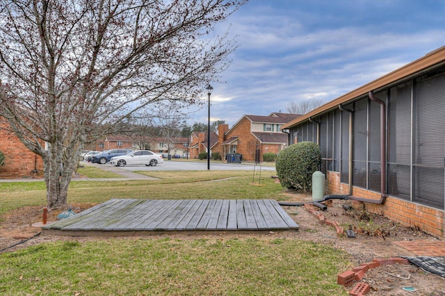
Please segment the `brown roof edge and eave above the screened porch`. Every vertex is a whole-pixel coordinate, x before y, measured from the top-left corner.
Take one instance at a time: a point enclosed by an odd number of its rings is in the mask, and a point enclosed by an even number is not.
[[[292,120],[291,122],[284,124],[281,129],[289,129],[293,126],[296,126],[300,122],[304,122],[305,120],[309,120],[310,117],[314,117],[320,113],[325,113],[329,110],[333,110],[338,108],[340,104],[343,104],[347,101],[356,99],[358,97],[362,97],[367,95],[369,92],[374,91],[378,92],[382,88],[388,87],[388,85],[395,85],[396,83],[400,83],[403,80],[409,79],[412,76],[419,75],[421,72],[426,72],[427,69],[432,67],[439,67],[440,65],[445,64],[445,46],[436,49],[435,51],[431,51],[425,56],[414,60],[414,62],[409,63],[401,68],[386,74],[385,76],[380,77],[379,79],[375,79],[370,83],[367,83],[360,88],[353,90],[352,92],[348,92],[347,94],[343,94],[341,97],[334,99],[323,106],[312,110],[301,117]]]

